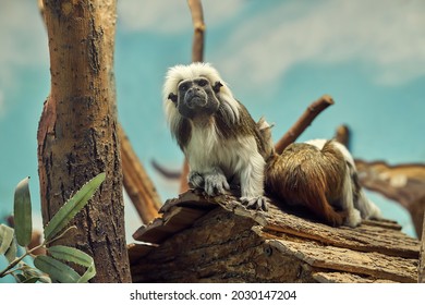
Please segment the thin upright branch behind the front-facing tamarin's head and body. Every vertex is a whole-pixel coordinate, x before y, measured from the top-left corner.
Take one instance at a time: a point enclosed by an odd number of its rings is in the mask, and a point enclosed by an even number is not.
[[[204,40],[205,40],[205,23],[204,23],[204,12],[201,0],[187,0],[189,9],[192,14],[193,22],[193,45],[192,45],[192,62],[202,62],[204,61]],[[187,184],[189,175],[189,162],[184,159],[182,174],[180,176],[180,193],[186,192],[189,190]]]

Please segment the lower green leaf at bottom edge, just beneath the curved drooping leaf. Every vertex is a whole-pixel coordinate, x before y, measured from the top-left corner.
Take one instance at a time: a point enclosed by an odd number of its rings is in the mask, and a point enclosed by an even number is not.
[[[81,279],[74,269],[46,255],[38,255],[34,259],[34,266],[49,274],[53,281],[61,283],[76,283]]]

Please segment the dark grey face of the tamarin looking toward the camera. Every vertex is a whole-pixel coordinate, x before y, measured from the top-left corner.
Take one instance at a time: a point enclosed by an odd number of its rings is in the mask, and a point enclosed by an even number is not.
[[[184,80],[178,85],[178,94],[170,94],[180,114],[186,119],[205,119],[219,109],[220,102],[216,96],[216,88],[206,77]]]

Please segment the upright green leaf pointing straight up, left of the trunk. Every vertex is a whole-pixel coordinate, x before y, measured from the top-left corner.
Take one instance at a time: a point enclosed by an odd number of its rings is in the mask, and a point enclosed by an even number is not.
[[[28,186],[29,176],[22,180],[14,196],[14,221],[17,243],[25,247],[31,242],[33,221],[31,215],[31,196]]]

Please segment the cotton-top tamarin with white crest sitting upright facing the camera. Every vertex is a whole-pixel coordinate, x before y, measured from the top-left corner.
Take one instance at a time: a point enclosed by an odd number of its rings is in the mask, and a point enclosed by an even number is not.
[[[175,65],[166,76],[163,103],[171,134],[190,166],[189,183],[210,195],[229,183],[241,187],[241,202],[267,209],[264,196],[265,158],[262,125],[234,97],[208,63]]]

